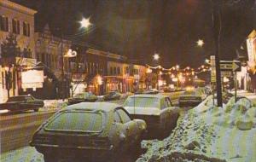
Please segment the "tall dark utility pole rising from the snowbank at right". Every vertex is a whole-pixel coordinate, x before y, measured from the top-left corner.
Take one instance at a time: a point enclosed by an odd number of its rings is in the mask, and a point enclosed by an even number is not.
[[[212,29],[215,46],[215,61],[216,61],[216,84],[217,84],[217,101],[218,107],[222,107],[222,91],[221,91],[221,78],[219,67],[219,38],[220,38],[220,17],[219,17],[219,0],[212,0]]]

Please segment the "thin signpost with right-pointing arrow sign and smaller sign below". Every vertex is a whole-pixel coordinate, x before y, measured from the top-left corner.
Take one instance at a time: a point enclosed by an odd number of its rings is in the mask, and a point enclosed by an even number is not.
[[[220,61],[220,70],[224,77],[230,77],[231,73],[234,72],[235,79],[235,101],[237,95],[237,80],[236,72],[241,71],[241,61]]]

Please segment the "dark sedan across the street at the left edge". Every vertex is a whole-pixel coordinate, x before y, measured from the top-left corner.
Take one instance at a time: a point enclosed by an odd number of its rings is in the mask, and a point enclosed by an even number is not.
[[[9,111],[34,110],[38,112],[40,107],[44,107],[44,101],[34,98],[32,95],[16,95],[9,97],[8,101],[0,104],[0,109]]]

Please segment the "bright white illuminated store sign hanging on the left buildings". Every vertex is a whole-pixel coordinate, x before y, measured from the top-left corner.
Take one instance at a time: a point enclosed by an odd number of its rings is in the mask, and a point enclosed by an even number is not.
[[[22,89],[43,88],[44,71],[43,70],[28,70],[21,72],[21,87]]]

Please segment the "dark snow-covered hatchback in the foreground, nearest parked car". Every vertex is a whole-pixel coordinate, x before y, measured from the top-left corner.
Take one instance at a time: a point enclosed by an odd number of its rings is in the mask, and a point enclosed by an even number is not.
[[[146,130],[141,119],[131,119],[123,107],[107,102],[81,102],[55,113],[42,124],[30,145],[44,161],[78,157],[103,158],[131,148]],[[108,159],[106,157],[105,159]]]

